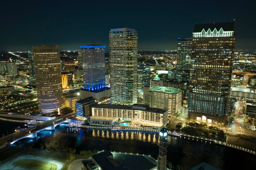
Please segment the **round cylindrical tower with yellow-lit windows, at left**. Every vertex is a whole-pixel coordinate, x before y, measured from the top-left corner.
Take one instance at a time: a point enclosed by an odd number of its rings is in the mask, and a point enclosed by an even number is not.
[[[33,46],[38,108],[51,113],[63,108],[59,46]]]

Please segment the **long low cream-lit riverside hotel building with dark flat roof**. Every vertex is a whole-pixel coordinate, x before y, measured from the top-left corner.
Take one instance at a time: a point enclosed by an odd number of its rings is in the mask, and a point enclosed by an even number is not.
[[[168,111],[166,109],[151,108],[146,104],[115,105],[98,104],[92,107],[92,116],[114,117],[127,120],[139,120],[153,124],[166,124]]]

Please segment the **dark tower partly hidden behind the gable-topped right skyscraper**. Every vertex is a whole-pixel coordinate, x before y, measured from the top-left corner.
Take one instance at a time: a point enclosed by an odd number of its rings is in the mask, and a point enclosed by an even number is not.
[[[192,37],[178,38],[176,79],[189,84]]]

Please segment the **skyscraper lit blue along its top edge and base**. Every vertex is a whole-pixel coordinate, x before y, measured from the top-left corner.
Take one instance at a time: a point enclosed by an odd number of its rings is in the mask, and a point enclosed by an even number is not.
[[[83,62],[83,88],[88,91],[106,87],[105,47],[99,45],[80,46]]]

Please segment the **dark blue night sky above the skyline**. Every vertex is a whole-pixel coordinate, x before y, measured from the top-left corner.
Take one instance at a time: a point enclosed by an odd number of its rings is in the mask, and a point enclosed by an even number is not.
[[[191,36],[195,22],[231,22],[236,49],[256,51],[255,0],[5,0],[0,3],[0,51],[33,45],[79,49],[96,42],[108,49],[108,31],[128,27],[139,49],[177,49],[177,37]]]

